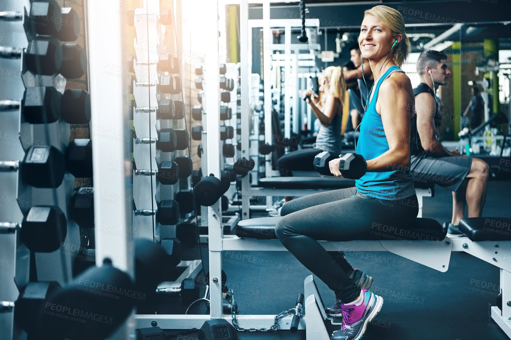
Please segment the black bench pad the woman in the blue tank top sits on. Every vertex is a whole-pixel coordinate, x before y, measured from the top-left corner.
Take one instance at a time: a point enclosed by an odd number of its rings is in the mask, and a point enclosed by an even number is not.
[[[238,222],[236,226],[236,235],[238,237],[257,238],[257,239],[277,239],[275,236],[275,225],[284,218],[260,217],[251,218]],[[354,235],[352,240],[443,240],[447,231],[431,218],[416,218],[415,223],[406,226],[406,228],[390,228],[388,226],[377,225],[373,227],[370,234],[364,233]],[[331,241],[331,240],[328,240]]]

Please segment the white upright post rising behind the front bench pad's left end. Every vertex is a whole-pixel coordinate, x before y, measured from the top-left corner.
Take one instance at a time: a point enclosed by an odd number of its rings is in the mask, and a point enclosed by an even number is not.
[[[241,76],[241,157],[250,159],[249,155],[249,76],[251,74],[251,55],[249,52],[248,39],[251,38],[251,32],[248,31],[248,0],[241,0],[240,3],[240,76]],[[247,65],[246,67],[243,65]],[[241,180],[241,219],[246,220],[249,217],[250,195],[250,176],[245,176]]]

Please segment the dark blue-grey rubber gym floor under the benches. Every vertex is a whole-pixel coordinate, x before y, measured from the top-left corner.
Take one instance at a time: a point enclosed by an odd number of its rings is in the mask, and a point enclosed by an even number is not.
[[[510,190],[511,181],[489,181],[483,216],[511,216]],[[436,186],[435,197],[424,198],[423,216],[444,223],[450,220],[451,208],[451,192]],[[206,261],[207,249],[202,247],[202,252]],[[310,272],[288,252],[241,253],[251,258],[236,259],[240,255],[235,252],[223,256],[226,285],[234,290],[239,313],[277,314],[294,307]],[[253,257],[263,264],[251,263]],[[346,258],[354,268],[374,277],[371,290],[385,299],[363,340],[508,339],[487,316],[488,304],[495,303],[499,293],[496,266],[461,252],[452,253],[446,273],[388,252],[346,254]],[[333,292],[316,282],[323,302],[333,303]],[[192,340],[197,333],[177,338]],[[305,340],[306,336],[305,330],[296,334],[283,330],[238,332],[238,338]]]

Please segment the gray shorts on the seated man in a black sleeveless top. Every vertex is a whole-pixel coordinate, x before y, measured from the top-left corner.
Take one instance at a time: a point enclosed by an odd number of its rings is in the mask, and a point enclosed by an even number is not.
[[[451,191],[458,190],[472,166],[472,157],[434,158],[425,153],[411,156],[410,179],[415,183],[437,184]]]

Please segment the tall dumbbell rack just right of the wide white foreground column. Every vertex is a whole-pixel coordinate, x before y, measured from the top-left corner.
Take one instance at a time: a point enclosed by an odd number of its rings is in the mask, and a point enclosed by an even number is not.
[[[134,72],[133,237],[152,239],[159,244],[157,252],[164,250],[162,257],[151,258],[150,267],[135,266],[135,272],[146,268],[136,276],[161,273],[152,280],[157,288],[137,306],[137,314],[161,313],[161,299],[180,298],[187,307],[199,298],[202,264],[198,252],[189,251],[197,246],[199,236],[182,64],[180,56],[171,52],[180,51],[173,18],[171,10],[160,9],[157,16],[147,8],[137,8],[131,22],[136,37],[135,55],[129,57]],[[148,53],[151,44],[147,42],[156,40],[154,32],[165,43]],[[146,262],[136,245],[135,260]]]

